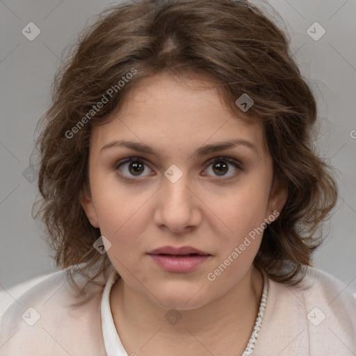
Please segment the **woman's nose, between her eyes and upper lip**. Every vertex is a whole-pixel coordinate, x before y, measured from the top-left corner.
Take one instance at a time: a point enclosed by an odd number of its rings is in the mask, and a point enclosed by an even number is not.
[[[156,195],[154,223],[170,232],[186,232],[200,224],[200,200],[188,185],[186,175],[172,183],[163,177],[163,186]]]

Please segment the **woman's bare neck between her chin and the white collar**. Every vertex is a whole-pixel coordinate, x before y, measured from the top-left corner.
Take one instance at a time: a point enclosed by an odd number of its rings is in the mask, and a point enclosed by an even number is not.
[[[231,350],[242,353],[254,327],[262,289],[261,273],[250,268],[224,296],[197,309],[169,314],[172,311],[152,304],[119,278],[111,290],[110,303],[116,329],[129,355],[131,352],[145,355],[143,350],[155,355],[166,355],[165,351],[173,355],[171,348],[164,348],[167,341],[168,346],[177,345],[177,355],[187,351],[205,355],[207,350],[220,355],[224,348],[227,354]],[[168,320],[168,315],[180,320],[175,323],[174,319]]]

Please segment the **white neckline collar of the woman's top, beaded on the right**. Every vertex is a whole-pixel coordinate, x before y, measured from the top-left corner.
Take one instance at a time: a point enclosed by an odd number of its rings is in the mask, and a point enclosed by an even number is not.
[[[250,356],[253,353],[254,346],[257,342],[257,337],[259,335],[259,331],[261,330],[261,323],[264,317],[264,310],[266,308],[267,302],[267,292],[268,292],[268,277],[264,275],[264,289],[262,291],[261,302],[259,304],[259,311],[257,313],[256,322],[254,323],[254,327],[252,330],[252,334],[250,339],[248,340],[248,345],[243,351],[241,356]],[[106,282],[103,296],[102,296],[102,332],[104,338],[104,345],[107,356],[128,356],[124,346],[122,346],[122,342],[116,331],[115,323],[113,320],[113,314],[111,313],[110,307],[110,292],[113,284],[118,280],[118,273],[116,270],[113,270],[111,275],[108,277],[108,282]]]

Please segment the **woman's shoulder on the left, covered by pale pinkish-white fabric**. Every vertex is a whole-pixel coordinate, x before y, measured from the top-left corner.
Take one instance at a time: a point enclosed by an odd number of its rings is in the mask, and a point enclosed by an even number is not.
[[[90,282],[86,295],[92,299],[75,306],[79,299],[67,278],[68,270],[49,275],[6,309],[0,320],[0,355],[101,355],[100,302],[105,280]],[[75,270],[74,276],[79,284],[85,282]]]

